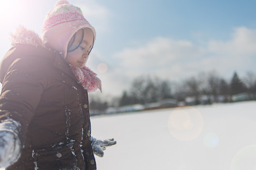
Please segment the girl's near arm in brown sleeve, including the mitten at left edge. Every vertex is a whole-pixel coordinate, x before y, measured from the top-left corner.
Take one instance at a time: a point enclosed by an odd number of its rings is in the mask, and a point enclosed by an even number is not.
[[[0,166],[18,160],[28,125],[34,117],[45,88],[44,71],[34,56],[20,56],[24,49],[13,47],[0,64]]]

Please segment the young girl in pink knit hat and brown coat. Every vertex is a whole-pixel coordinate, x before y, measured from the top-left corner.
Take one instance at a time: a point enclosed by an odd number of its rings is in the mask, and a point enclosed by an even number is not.
[[[59,0],[41,38],[20,26],[0,63],[0,167],[95,170],[113,139],[91,138],[87,92],[101,81],[85,63],[95,29],[80,8]]]

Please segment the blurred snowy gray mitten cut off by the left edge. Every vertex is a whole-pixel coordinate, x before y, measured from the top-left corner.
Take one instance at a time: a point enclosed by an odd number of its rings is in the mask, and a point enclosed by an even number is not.
[[[0,167],[8,167],[19,159],[21,142],[17,127],[12,120],[0,123]]]

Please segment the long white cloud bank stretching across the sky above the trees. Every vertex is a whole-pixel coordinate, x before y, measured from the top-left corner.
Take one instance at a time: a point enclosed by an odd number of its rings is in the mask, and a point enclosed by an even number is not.
[[[256,71],[252,55],[256,56],[256,30],[245,27],[235,29],[226,42],[209,40],[204,45],[156,37],[114,54],[119,64],[104,75],[104,81],[109,84],[107,90],[121,93],[134,77],[146,74],[179,81],[201,71],[217,70],[224,78],[230,78],[234,70]]]

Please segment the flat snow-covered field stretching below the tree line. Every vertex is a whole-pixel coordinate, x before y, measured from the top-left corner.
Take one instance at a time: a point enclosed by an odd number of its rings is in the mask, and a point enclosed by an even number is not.
[[[256,170],[256,101],[91,118],[98,170]]]

